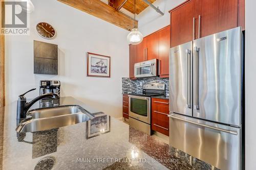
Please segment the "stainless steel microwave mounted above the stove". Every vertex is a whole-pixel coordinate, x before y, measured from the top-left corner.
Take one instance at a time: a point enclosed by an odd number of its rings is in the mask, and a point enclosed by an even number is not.
[[[142,77],[155,77],[157,76],[158,60],[148,60],[134,64],[134,76],[135,78]]]

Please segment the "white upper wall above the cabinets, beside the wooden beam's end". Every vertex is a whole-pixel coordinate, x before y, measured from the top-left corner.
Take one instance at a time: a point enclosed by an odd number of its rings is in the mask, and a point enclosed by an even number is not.
[[[153,5],[155,7],[159,7],[164,15],[162,16],[161,14],[157,13],[152,7],[147,7],[137,17],[139,20],[139,31],[143,36],[146,36],[169,25],[170,14],[168,11],[183,2],[185,2],[185,0],[156,0]]]

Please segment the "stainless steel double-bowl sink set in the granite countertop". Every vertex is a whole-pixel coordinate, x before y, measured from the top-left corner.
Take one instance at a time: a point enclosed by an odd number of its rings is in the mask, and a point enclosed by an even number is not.
[[[61,106],[29,111],[29,118],[23,120],[16,128],[17,132],[44,131],[82,122],[94,116],[79,106]]]

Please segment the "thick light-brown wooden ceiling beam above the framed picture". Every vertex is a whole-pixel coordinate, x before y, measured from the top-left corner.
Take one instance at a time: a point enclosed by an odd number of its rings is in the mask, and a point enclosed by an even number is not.
[[[73,8],[86,12],[90,15],[96,16],[107,22],[121,27],[125,30],[132,30],[134,27],[134,20],[127,17],[115,8],[103,3],[100,0],[57,0],[61,3],[67,4]],[[138,21],[136,21],[136,26]]]

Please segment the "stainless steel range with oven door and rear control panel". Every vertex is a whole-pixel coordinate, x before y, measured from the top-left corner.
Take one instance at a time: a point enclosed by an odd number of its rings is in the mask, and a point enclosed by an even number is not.
[[[151,96],[164,94],[165,84],[144,84],[142,93],[129,95],[129,125],[148,135],[151,131]]]

